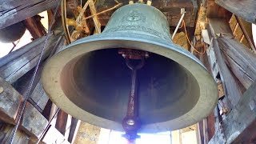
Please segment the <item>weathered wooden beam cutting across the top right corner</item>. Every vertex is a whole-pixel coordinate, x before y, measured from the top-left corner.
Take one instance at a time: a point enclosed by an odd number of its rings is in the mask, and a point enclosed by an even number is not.
[[[256,24],[256,2],[254,0],[215,0],[215,2],[247,22]]]

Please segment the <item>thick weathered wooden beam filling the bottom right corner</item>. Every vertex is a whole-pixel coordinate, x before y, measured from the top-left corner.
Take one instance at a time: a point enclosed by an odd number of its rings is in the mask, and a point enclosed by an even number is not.
[[[238,105],[223,120],[222,133],[226,143],[254,143],[256,138],[256,82],[246,90]],[[220,143],[218,131],[210,140],[210,144]]]

